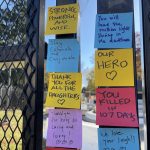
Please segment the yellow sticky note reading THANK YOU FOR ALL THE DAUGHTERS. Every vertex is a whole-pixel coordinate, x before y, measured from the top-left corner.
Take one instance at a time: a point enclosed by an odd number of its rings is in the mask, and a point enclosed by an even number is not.
[[[80,108],[81,73],[49,73],[46,107]]]

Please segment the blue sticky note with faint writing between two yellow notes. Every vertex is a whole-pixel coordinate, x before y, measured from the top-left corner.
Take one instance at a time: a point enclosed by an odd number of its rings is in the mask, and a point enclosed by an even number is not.
[[[76,39],[51,39],[46,72],[78,72],[80,46]]]

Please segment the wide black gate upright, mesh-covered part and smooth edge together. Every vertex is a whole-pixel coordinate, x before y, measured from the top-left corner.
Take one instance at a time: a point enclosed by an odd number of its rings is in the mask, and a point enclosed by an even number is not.
[[[27,104],[23,110],[23,150],[42,150],[44,90],[45,0],[27,0],[25,46]]]

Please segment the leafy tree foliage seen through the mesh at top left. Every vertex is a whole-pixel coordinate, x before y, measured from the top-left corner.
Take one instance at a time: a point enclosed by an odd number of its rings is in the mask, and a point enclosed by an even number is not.
[[[25,42],[26,0],[0,3],[0,46]]]

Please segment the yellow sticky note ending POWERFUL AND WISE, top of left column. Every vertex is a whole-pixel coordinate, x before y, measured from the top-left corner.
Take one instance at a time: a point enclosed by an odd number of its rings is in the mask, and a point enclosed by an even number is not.
[[[45,34],[76,33],[78,12],[78,4],[49,7]]]

